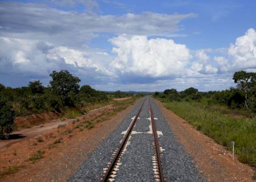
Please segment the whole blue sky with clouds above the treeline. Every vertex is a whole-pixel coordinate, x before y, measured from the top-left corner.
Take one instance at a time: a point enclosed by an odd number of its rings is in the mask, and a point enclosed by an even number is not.
[[[256,71],[256,1],[0,1],[0,83],[67,69],[106,91],[200,91]]]

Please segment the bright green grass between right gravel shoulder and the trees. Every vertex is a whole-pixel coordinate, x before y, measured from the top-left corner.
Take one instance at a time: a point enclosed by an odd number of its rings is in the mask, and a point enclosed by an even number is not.
[[[256,117],[234,117],[201,102],[174,101],[164,105],[228,150],[232,150],[234,141],[238,159],[256,167]]]

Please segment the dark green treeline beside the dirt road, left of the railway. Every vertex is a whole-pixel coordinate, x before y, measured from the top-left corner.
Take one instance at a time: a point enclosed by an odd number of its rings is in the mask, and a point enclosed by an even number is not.
[[[0,84],[0,138],[7,138],[13,131],[14,118],[30,114],[54,111],[60,113],[70,107],[83,107],[91,102],[104,102],[111,97],[126,97],[121,91],[105,93],[91,88],[80,87],[79,77],[68,71],[53,71],[47,87],[39,80],[28,86],[10,88]]]

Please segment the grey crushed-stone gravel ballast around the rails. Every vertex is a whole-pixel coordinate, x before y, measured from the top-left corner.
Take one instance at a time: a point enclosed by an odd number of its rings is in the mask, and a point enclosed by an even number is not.
[[[154,100],[150,97],[145,98],[146,102],[144,102],[141,114],[134,126],[126,151],[121,157],[121,165],[114,180],[156,181],[152,164],[154,146],[152,145],[153,135],[150,132],[150,100],[156,118],[157,130],[163,133],[163,135],[159,135],[159,141],[160,146],[163,147],[161,160],[164,178],[167,181],[202,181],[192,163],[192,158],[186,154],[181,144],[175,139],[170,126],[164,121]],[[118,128],[88,156],[68,181],[100,181],[103,169],[108,166],[110,158],[124,135],[122,132],[128,129],[132,121],[131,118],[138,113],[145,98],[142,98],[138,105],[134,106]]]

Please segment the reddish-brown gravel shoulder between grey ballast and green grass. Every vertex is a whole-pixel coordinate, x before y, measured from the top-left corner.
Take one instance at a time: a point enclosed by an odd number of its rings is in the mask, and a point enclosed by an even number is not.
[[[155,103],[174,132],[175,138],[191,154],[197,170],[207,181],[254,181],[254,168],[240,163],[236,158],[232,160],[231,153],[224,147],[166,109],[161,102],[155,100]]]

